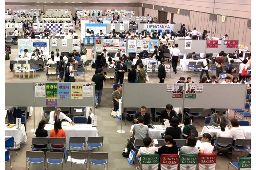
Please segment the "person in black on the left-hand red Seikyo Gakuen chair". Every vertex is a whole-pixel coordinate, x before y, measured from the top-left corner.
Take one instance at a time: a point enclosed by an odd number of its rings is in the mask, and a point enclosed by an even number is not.
[[[164,136],[164,143],[166,143],[166,145],[158,147],[158,152],[156,152],[157,154],[160,156],[161,154],[178,154],[178,147],[172,136]]]

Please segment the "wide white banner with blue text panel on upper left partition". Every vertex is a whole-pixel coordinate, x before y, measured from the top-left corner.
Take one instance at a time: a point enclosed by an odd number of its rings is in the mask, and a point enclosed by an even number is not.
[[[49,39],[18,39],[18,55],[28,49],[28,53],[36,52],[39,49],[42,55],[49,55]]]

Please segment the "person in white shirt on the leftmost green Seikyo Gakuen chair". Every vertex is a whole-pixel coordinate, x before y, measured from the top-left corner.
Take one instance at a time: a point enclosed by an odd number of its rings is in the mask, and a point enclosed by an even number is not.
[[[152,143],[152,139],[150,137],[146,137],[143,139],[143,143],[145,147],[140,147],[137,158],[140,159],[141,154],[154,154],[158,151],[157,147],[155,146],[155,143]],[[152,143],[152,147],[150,146]],[[138,166],[136,167],[136,170],[140,170],[140,161],[138,161]]]

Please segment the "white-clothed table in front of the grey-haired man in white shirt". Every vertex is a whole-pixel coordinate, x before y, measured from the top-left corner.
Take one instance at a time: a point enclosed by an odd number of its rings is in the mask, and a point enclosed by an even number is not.
[[[48,131],[48,138],[50,138],[50,134],[52,129],[54,129],[54,125],[46,124],[44,129]],[[87,140],[88,137],[98,136],[97,128],[87,124],[76,124],[72,126],[63,125],[62,123],[62,129],[66,133],[66,146],[69,146],[69,137],[85,137]]]

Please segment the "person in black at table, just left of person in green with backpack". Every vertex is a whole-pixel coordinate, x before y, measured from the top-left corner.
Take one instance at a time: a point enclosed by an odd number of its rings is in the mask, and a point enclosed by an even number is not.
[[[171,135],[174,139],[182,139],[182,131],[181,128],[178,127],[179,125],[179,120],[177,117],[172,118],[171,127],[167,127],[165,130],[165,136],[166,135]]]

